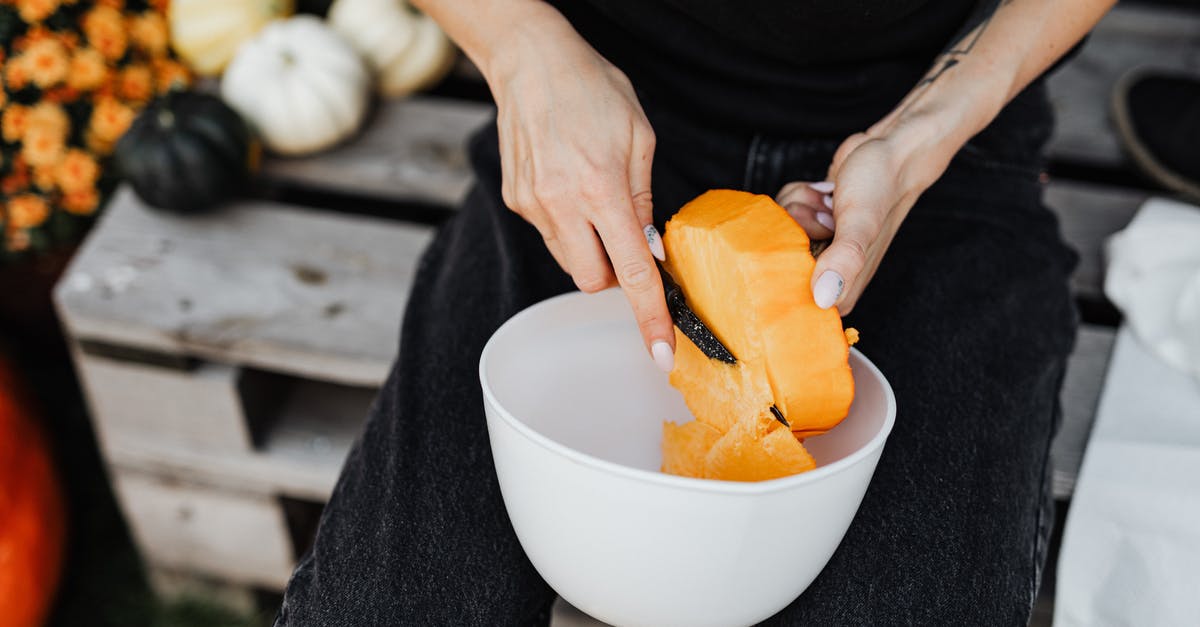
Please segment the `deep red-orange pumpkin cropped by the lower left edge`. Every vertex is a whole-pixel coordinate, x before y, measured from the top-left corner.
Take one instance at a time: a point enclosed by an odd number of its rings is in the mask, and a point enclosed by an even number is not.
[[[62,565],[62,496],[41,431],[0,360],[0,625],[35,627],[49,614]]]

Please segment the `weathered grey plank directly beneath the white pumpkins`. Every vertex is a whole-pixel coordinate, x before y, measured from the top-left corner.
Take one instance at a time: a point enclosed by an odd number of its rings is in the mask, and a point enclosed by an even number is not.
[[[310,156],[268,159],[263,175],[276,183],[457,208],[472,180],[467,138],[488,123],[492,112],[476,102],[428,96],[383,101],[359,137]]]

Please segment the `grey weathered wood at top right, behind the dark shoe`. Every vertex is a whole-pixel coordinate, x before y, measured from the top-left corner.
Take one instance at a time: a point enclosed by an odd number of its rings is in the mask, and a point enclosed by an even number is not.
[[[1122,4],[1105,16],[1079,55],[1050,77],[1050,98],[1058,114],[1051,157],[1128,166],[1109,119],[1109,102],[1117,78],[1138,66],[1200,74],[1200,12]]]

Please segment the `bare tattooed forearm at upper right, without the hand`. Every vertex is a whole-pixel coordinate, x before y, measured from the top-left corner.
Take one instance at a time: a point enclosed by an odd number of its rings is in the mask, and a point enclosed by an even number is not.
[[[931,163],[944,167],[1114,4],[1114,0],[997,2],[995,11],[940,55],[908,96],[868,135],[899,133],[913,155],[936,156]],[[936,169],[925,175],[936,179],[941,168]]]

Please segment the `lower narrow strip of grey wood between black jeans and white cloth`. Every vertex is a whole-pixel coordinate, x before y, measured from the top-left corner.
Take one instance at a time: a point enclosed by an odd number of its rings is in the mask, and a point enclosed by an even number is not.
[[[1067,362],[1067,377],[1058,395],[1062,428],[1050,449],[1055,498],[1069,498],[1075,490],[1115,341],[1116,329],[1092,324],[1080,326],[1075,336],[1075,350]]]

